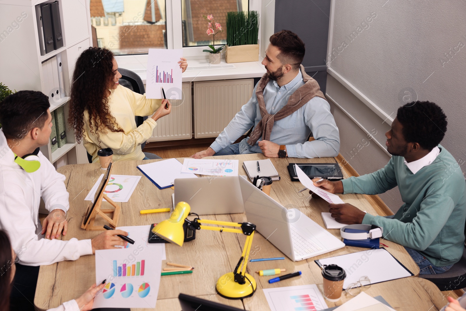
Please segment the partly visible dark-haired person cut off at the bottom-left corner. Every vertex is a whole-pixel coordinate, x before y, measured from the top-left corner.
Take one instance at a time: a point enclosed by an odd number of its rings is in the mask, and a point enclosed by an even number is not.
[[[11,246],[10,239],[5,231],[0,230],[0,267],[2,274],[0,275],[0,311],[10,310],[10,291],[16,273],[16,254]],[[103,284],[92,285],[80,297],[67,301],[57,308],[48,309],[48,311],[88,311],[92,310],[94,297],[99,290],[105,286]],[[31,307],[32,307],[32,303]],[[11,309],[14,310],[14,309]],[[20,309],[16,309],[20,310]],[[23,309],[21,309],[23,310]]]

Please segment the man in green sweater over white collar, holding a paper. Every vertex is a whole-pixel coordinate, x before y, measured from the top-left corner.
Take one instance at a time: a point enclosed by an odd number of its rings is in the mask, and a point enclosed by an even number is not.
[[[420,274],[448,271],[463,254],[466,183],[457,161],[439,145],[446,125],[438,105],[405,104],[385,133],[392,157],[384,168],[341,181],[314,182],[343,194],[381,194],[398,186],[404,204],[393,216],[373,216],[350,204],[330,204],[330,213],[344,224],[384,228],[384,238],[403,245]]]

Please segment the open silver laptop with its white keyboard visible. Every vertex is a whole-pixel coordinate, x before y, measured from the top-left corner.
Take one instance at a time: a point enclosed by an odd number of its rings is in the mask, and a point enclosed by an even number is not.
[[[287,209],[239,176],[247,221],[293,261],[341,249],[345,244],[298,209]],[[176,189],[176,188],[175,188]]]

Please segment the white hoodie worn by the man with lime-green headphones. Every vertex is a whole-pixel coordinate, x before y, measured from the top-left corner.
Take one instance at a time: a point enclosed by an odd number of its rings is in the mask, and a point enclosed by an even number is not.
[[[19,141],[21,143],[21,141]],[[40,199],[48,211],[69,209],[65,176],[39,152],[41,167],[26,173],[14,162],[14,153],[0,129],[0,229],[7,232],[19,263],[40,266],[91,255],[90,240],[48,240],[41,235]]]

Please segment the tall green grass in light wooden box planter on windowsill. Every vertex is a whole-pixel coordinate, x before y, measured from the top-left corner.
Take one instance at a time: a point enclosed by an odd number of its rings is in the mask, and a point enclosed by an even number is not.
[[[259,61],[259,13],[226,13],[226,62]]]

